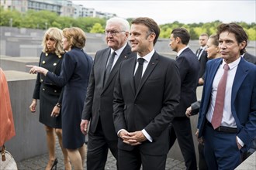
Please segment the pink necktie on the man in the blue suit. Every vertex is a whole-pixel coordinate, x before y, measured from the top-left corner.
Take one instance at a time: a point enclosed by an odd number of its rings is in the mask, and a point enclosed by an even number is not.
[[[229,66],[225,64],[224,73],[220,79],[220,83],[217,88],[216,101],[215,101],[215,106],[213,111],[212,124],[214,129],[220,127],[220,123],[222,120],[226,84],[227,84],[227,70],[229,70]]]

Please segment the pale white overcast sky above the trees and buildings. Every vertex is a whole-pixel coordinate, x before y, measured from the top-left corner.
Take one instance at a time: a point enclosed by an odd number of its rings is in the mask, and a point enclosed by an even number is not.
[[[85,8],[115,13],[124,19],[149,17],[159,25],[171,22],[256,22],[255,0],[215,1],[98,1],[72,0]]]

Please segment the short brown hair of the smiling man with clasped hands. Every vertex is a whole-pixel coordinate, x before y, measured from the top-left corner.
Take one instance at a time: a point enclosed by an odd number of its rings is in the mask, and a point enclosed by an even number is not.
[[[157,22],[155,22],[153,19],[147,18],[147,17],[139,17],[137,19],[134,19],[131,24],[143,24],[144,26],[147,26],[149,32],[147,32],[148,35],[150,33],[154,32],[156,35],[156,38],[154,39],[154,45],[157,42],[158,36],[160,34],[160,28],[157,25]]]

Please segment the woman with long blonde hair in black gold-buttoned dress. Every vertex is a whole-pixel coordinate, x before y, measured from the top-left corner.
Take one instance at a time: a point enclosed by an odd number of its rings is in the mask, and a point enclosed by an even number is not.
[[[50,28],[43,36],[43,52],[40,55],[39,66],[46,68],[52,73],[59,75],[61,73],[61,63],[64,56],[64,50],[61,43],[62,31],[57,28]],[[49,152],[49,161],[46,169],[52,169],[57,166],[55,157],[55,135],[61,145],[64,155],[65,169],[71,169],[71,164],[67,155],[67,150],[62,146],[61,129],[61,87],[45,82],[43,74],[37,74],[36,86],[33,93],[33,101],[29,109],[36,111],[36,101],[40,99],[40,118],[39,121],[45,125],[47,132],[47,148]]]

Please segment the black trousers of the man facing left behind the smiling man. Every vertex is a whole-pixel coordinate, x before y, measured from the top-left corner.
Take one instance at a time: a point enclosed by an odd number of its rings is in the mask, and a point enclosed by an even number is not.
[[[174,145],[176,138],[181,148],[186,169],[196,170],[195,147],[192,138],[191,124],[188,117],[175,117],[169,126],[169,149]]]

